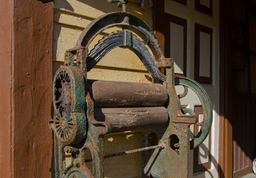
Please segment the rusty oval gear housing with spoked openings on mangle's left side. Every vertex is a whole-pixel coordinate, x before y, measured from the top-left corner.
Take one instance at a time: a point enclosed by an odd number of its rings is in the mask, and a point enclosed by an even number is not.
[[[85,136],[85,84],[76,67],[59,68],[53,80],[53,129],[60,142],[81,142]]]

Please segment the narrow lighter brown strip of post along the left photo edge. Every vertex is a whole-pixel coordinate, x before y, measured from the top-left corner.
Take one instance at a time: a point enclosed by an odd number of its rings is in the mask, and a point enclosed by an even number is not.
[[[13,77],[13,1],[0,1],[0,177],[11,178],[13,146],[12,118],[12,77]]]

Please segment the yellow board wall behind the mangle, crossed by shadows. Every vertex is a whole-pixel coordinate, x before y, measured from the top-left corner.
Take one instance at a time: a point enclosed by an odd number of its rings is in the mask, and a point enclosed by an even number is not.
[[[82,30],[96,17],[108,12],[120,11],[116,4],[107,0],[54,0],[53,29],[53,73],[63,64],[65,50],[75,46]],[[151,7],[142,9],[140,4],[130,1],[127,11],[152,24]],[[102,36],[119,30],[105,30],[93,41],[96,44]],[[93,47],[90,46],[90,48]],[[125,82],[151,82],[140,59],[127,49],[116,48],[108,53],[96,67],[88,73],[89,79]],[[113,133],[105,136],[105,154],[114,154],[142,147],[140,131]],[[105,177],[141,177],[141,154],[131,154],[105,159]]]

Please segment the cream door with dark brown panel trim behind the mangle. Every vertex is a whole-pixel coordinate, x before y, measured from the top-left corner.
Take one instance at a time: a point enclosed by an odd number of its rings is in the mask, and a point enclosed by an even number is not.
[[[165,0],[154,2],[154,28],[165,57],[174,59],[176,76],[200,82],[211,98],[214,122],[211,134],[191,151],[193,177],[217,177],[219,113],[219,1]],[[182,88],[177,88],[177,92]],[[182,91],[180,91],[182,92]],[[202,118],[200,100],[188,90],[182,105]],[[198,128],[191,126],[191,138]],[[194,134],[193,134],[194,133]],[[193,160],[193,161],[192,161]]]

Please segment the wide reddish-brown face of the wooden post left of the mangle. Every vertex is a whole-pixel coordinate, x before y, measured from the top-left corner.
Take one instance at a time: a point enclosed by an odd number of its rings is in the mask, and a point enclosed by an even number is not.
[[[11,131],[11,177],[54,177],[53,134],[48,127],[53,94],[53,0],[11,3],[12,57],[6,59],[12,62],[12,124],[6,125]]]

